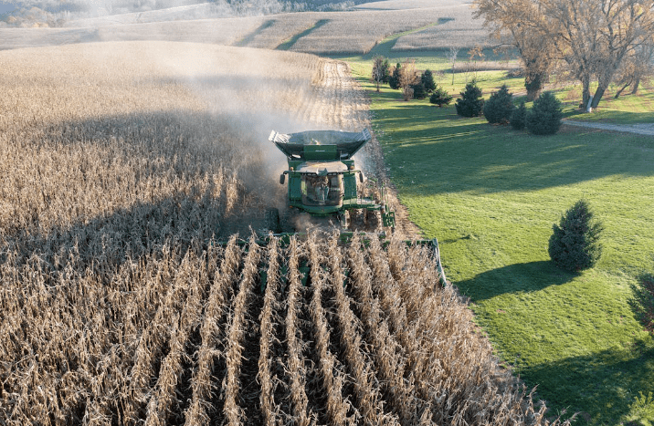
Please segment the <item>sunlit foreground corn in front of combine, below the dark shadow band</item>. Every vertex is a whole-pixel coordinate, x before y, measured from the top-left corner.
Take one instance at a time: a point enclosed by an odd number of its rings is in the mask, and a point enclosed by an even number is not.
[[[5,253],[5,424],[538,424],[427,248]]]

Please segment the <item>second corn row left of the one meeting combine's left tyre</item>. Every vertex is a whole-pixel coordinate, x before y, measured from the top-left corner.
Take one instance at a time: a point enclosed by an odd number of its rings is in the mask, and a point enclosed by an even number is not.
[[[213,257],[214,252],[212,251],[209,255]],[[232,235],[206,301],[205,315],[200,327],[202,344],[197,352],[197,366],[191,385],[193,397],[185,416],[187,426],[195,426],[209,421],[208,411],[212,408],[209,400],[211,392],[215,388],[211,374],[214,360],[220,355],[219,349],[217,349],[221,335],[220,320],[227,307],[229,289],[236,281],[240,257],[241,251],[237,245],[237,235]]]

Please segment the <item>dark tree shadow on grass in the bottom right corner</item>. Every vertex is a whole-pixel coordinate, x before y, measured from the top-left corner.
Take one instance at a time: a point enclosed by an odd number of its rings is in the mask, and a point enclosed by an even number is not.
[[[550,409],[579,412],[575,424],[621,424],[638,392],[654,391],[654,344],[635,340],[631,348],[611,348],[521,369],[528,386]]]

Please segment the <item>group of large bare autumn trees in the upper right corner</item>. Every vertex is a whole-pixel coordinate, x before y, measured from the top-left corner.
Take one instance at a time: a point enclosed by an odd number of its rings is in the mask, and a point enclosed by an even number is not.
[[[596,108],[609,84],[638,91],[652,75],[654,0],[475,0],[475,17],[522,59],[535,99],[552,73],[582,83],[582,106]],[[596,84],[591,94],[591,86]],[[592,96],[592,98],[591,98]]]

